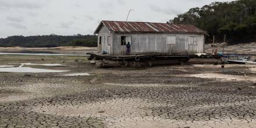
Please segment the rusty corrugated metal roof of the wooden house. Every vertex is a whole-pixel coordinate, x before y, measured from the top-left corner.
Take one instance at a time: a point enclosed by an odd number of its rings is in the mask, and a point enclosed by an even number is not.
[[[202,33],[207,32],[190,24],[119,22],[103,20],[95,30],[98,34],[102,26],[115,33]]]

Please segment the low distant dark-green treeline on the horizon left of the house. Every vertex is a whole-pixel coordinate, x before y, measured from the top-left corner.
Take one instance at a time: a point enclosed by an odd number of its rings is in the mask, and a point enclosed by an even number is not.
[[[7,38],[0,38],[0,47],[97,47],[96,35],[37,35],[24,37],[15,35]]]

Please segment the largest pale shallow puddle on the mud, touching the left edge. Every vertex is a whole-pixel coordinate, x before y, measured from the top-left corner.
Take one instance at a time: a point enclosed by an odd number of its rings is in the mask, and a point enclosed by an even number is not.
[[[69,70],[50,70],[50,69],[35,69],[32,67],[3,67],[0,72],[15,72],[15,73],[59,73],[69,72]]]

